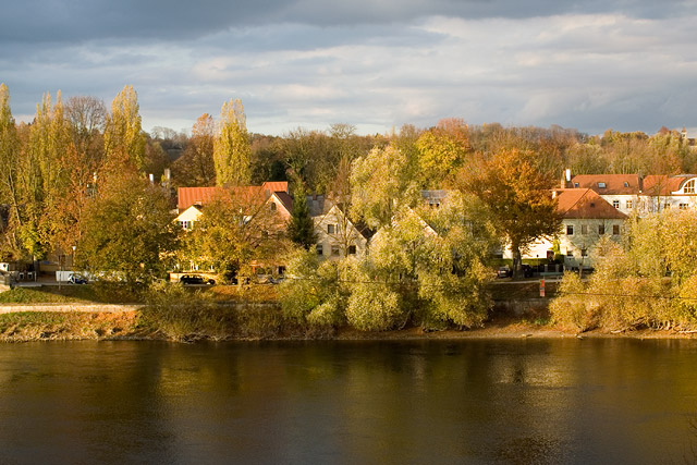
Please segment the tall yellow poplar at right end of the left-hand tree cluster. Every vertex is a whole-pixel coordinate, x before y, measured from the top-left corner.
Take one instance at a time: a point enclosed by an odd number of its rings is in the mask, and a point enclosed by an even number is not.
[[[105,154],[109,162],[130,162],[137,170],[145,168],[145,134],[140,126],[137,94],[125,86],[111,103],[105,129]]]

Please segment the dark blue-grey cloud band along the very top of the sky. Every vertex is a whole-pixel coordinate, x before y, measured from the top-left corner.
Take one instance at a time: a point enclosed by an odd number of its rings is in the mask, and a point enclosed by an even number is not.
[[[0,44],[99,38],[188,40],[231,28],[408,23],[425,16],[524,19],[564,13],[681,15],[692,0],[25,0],[3,5]]]

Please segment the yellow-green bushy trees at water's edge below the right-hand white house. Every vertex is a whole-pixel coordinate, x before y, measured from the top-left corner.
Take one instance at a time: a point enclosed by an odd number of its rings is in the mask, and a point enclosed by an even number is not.
[[[697,318],[696,221],[692,210],[629,219],[622,244],[601,240],[587,282],[564,276],[554,321],[576,331],[689,329]]]

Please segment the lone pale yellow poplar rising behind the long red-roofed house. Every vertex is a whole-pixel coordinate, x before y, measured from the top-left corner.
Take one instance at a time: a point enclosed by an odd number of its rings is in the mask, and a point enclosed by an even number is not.
[[[242,101],[227,101],[220,110],[219,132],[213,140],[216,184],[249,184],[250,161],[252,149]]]

